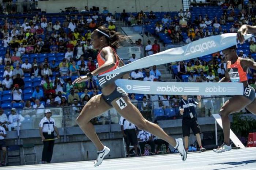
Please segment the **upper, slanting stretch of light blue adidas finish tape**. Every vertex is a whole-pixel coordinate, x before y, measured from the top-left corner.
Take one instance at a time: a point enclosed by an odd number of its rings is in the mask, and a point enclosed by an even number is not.
[[[157,54],[153,54],[122,67],[119,67],[111,72],[102,74],[101,76],[106,76],[109,74],[123,73],[131,70],[146,68],[154,65],[161,65],[176,61],[182,61],[192,58],[197,58],[204,55],[209,55],[228,47],[237,44],[236,33],[227,33],[215,36],[209,36],[203,39],[193,41],[185,46],[177,47],[169,50],[162,51]],[[249,39],[254,35],[245,35],[245,39]],[[101,77],[99,76],[99,77]]]

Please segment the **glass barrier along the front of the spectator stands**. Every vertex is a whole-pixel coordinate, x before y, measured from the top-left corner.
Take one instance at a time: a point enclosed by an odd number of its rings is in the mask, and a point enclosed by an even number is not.
[[[219,113],[220,108],[229,98],[230,96],[203,97],[201,99],[201,108],[197,107],[197,117],[210,117],[212,114]],[[132,100],[132,103],[139,109],[145,119],[154,122],[155,120],[182,119],[179,113],[180,101],[181,98],[156,101]],[[82,111],[82,108],[83,106],[69,106],[47,109],[51,110],[52,118],[55,120],[56,126],[58,128],[65,128],[78,126],[76,118]],[[7,130],[17,130],[18,124],[20,130],[31,130],[39,128],[39,122],[44,117],[45,109],[46,108],[16,109],[15,111],[0,110],[0,112],[5,113],[7,117],[9,117],[8,122],[12,119],[12,123],[5,125]],[[112,108],[101,116],[92,119],[91,123],[93,123],[93,125],[119,124],[119,120],[120,115]]]

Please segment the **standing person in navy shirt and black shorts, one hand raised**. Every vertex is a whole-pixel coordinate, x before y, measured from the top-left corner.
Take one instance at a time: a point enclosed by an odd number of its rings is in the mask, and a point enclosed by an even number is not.
[[[196,135],[196,140],[199,145],[199,151],[204,152],[206,149],[202,147],[201,137],[200,137],[200,126],[197,123],[197,113],[196,107],[198,105],[201,108],[201,96],[197,96],[198,103],[193,99],[188,99],[188,96],[181,95],[182,100],[179,103],[179,111],[182,115],[182,133],[185,142],[185,150],[188,151],[188,137],[190,134],[190,129],[192,129],[193,134]]]

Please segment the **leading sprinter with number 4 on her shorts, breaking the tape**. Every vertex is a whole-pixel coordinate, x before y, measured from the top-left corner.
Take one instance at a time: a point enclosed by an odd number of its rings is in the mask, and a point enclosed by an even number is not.
[[[87,81],[92,76],[110,72],[118,66],[123,66],[124,63],[120,60],[115,50],[119,47],[119,43],[126,38],[127,37],[116,31],[109,31],[105,26],[100,26],[93,31],[91,34],[91,41],[94,49],[99,50],[97,55],[99,67],[93,72],[88,73],[86,76],[77,78],[73,84]],[[113,78],[115,76],[118,76],[118,74],[114,74],[111,77]],[[181,154],[182,160],[186,160],[187,153],[181,138],[174,140],[174,138],[167,135],[158,125],[144,119],[139,110],[129,100],[127,93],[120,87],[117,87],[114,81],[111,81],[110,77],[99,77],[99,84],[102,88],[102,94],[91,98],[76,119],[79,127],[95,144],[98,150],[98,158],[94,162],[94,166],[98,166],[102,163],[103,158],[109,153],[110,149],[103,146],[95,133],[95,129],[93,124],[90,123],[90,120],[101,115],[103,112],[108,111],[112,107],[114,107],[121,116],[135,124],[138,128],[158,136],[177,148]]]

